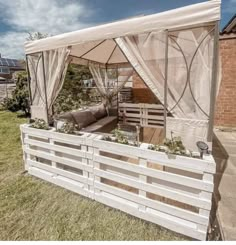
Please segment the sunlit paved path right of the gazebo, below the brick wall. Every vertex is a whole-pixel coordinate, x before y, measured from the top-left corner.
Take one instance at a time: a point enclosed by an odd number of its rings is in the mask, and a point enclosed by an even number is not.
[[[236,240],[236,131],[215,131],[215,201],[223,240]]]

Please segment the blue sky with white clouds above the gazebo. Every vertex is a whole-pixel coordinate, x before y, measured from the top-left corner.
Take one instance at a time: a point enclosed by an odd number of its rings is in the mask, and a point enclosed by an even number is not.
[[[206,0],[0,0],[0,53],[23,58],[29,32],[56,35],[154,14]],[[236,13],[236,0],[222,0],[221,28]]]

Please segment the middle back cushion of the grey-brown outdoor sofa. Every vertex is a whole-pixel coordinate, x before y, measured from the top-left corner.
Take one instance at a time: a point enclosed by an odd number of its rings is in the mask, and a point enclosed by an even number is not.
[[[76,111],[71,113],[79,128],[84,128],[97,121],[96,117],[89,110]]]

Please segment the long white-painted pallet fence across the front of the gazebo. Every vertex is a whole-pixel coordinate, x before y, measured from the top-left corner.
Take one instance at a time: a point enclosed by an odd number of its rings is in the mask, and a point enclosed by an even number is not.
[[[156,223],[205,240],[215,162],[168,156],[140,147],[21,126],[29,174]]]

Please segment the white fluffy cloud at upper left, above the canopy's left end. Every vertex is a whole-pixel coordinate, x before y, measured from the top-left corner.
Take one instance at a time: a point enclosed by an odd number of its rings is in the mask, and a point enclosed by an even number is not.
[[[84,17],[92,14],[84,2],[75,0],[0,0],[1,21],[11,31],[0,35],[4,56],[22,57],[23,43],[28,32],[50,35],[86,27]]]

